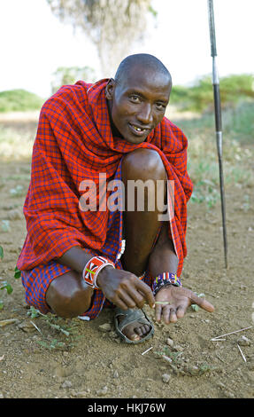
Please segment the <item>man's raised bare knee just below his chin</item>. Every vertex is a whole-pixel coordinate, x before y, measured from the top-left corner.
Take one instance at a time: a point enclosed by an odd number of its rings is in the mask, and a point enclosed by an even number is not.
[[[122,161],[122,177],[125,179],[166,179],[164,163],[153,149],[139,148],[127,153]]]

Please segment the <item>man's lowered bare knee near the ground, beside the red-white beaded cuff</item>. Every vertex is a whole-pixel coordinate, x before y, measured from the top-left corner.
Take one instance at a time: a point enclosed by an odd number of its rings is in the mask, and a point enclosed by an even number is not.
[[[75,272],[66,272],[53,279],[46,292],[46,303],[59,317],[73,318],[89,309],[91,288],[82,285]]]

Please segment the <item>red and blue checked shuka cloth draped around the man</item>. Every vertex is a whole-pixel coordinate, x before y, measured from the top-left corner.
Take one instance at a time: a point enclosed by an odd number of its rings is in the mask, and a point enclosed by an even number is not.
[[[24,205],[27,238],[17,264],[22,271],[28,301],[36,286],[47,287],[51,279],[70,271],[54,259],[73,246],[106,256],[121,267],[117,256],[122,213],[108,209],[81,211],[80,185],[81,181],[89,179],[99,190],[99,173],[105,173],[107,181],[120,179],[122,156],[139,147],[156,150],[164,162],[168,179],[174,181],[174,216],[169,233],[179,258],[177,274],[181,275],[183,258],[187,255],[186,206],[192,193],[187,173],[187,138],[166,118],[140,145],[112,137],[104,94],[107,81],[95,84],[80,81],[64,86],[42,106],[31,182]],[[46,277],[47,271],[50,271],[50,280]],[[43,284],[35,283],[39,275],[44,277]],[[96,317],[103,304],[104,296],[96,290],[89,317]],[[40,309],[47,311],[45,301]]]

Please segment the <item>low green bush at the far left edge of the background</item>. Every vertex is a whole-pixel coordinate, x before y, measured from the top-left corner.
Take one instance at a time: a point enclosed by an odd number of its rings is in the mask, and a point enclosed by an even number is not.
[[[27,90],[0,91],[0,113],[38,110],[42,104],[42,98]]]

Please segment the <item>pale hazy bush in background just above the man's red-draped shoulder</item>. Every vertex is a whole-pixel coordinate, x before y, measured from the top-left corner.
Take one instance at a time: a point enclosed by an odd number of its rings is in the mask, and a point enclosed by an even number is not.
[[[79,80],[83,80],[86,83],[94,83],[94,69],[91,67],[58,67],[53,74],[52,93],[56,92],[62,85],[74,84]]]

